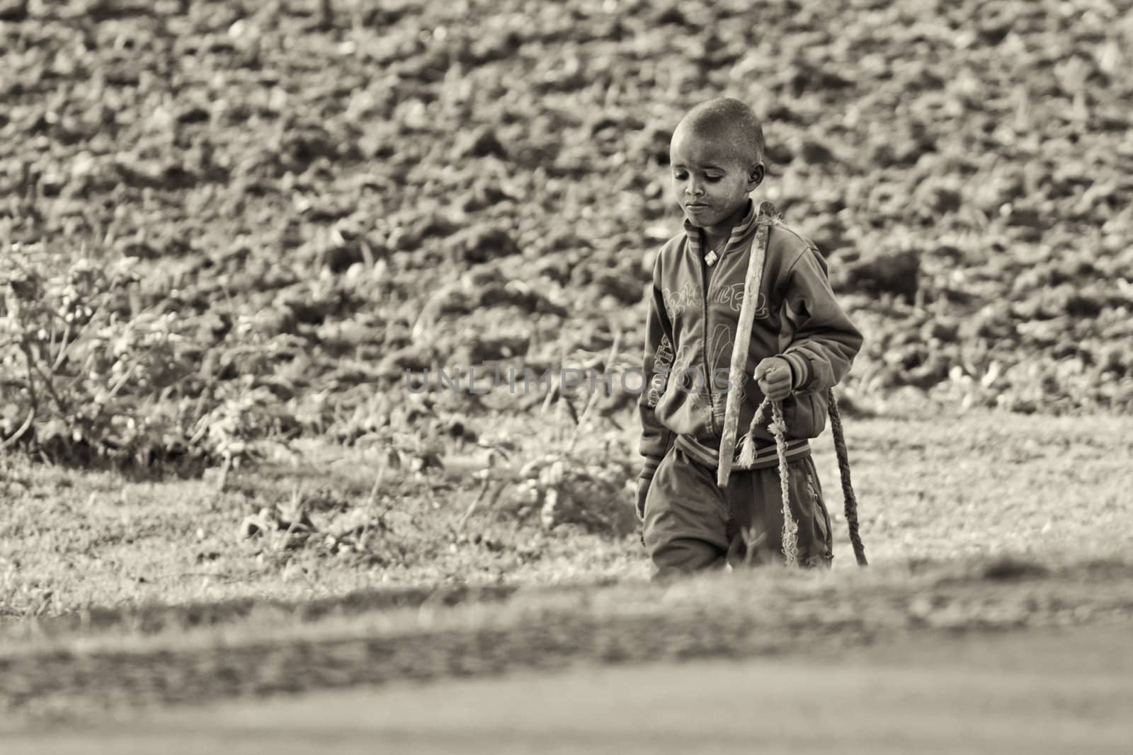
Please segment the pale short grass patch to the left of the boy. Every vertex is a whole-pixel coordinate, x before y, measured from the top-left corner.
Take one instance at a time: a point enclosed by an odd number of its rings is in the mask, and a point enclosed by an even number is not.
[[[8,460],[0,482],[0,635],[11,620],[97,607],[247,599],[312,601],[373,589],[644,576],[617,541],[537,522],[463,515],[478,481],[459,473],[383,473],[375,453],[303,447],[293,463],[204,480],[133,482],[110,473]],[[384,477],[377,495],[375,480]],[[241,522],[296,491],[316,533],[246,539]],[[365,547],[323,547],[332,531],[369,526]]]

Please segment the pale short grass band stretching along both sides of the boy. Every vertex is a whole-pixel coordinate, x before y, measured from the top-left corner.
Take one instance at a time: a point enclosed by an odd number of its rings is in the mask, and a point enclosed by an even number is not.
[[[1133,546],[1133,420],[1019,414],[850,418],[847,440],[871,563],[1017,555],[1107,557]],[[627,431],[625,449],[633,447]],[[628,453],[628,452],[627,452]],[[854,568],[829,438],[816,457],[837,530],[835,568]],[[376,456],[312,446],[303,462],[215,480],[130,482],[109,473],[5,462],[0,634],[97,607],[333,600],[375,589],[588,583],[644,578],[634,537],[478,512],[459,473],[381,474]],[[364,552],[272,550],[242,518],[306,491],[316,527],[386,525]],[[629,497],[623,505],[629,504]],[[373,518],[373,517],[372,517]],[[352,520],[351,520],[352,521]],[[477,542],[477,537],[479,542]],[[376,537],[376,535],[375,535]]]

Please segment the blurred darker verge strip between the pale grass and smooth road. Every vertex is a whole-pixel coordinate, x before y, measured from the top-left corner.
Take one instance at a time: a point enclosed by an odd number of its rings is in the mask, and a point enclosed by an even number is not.
[[[764,570],[286,618],[248,611],[204,629],[79,629],[9,645],[0,654],[3,720],[77,721],[152,704],[574,663],[811,653],[911,633],[1124,624],[1133,619],[1133,564]]]

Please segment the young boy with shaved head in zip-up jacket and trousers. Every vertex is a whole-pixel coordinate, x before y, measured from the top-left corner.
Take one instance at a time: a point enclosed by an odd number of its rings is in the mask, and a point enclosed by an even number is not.
[[[815,246],[769,205],[770,214],[757,212],[749,199],[764,180],[763,157],[759,120],[731,98],[693,108],[670,143],[684,232],[654,264],[639,400],[645,466],[637,511],[658,576],[783,558],[778,458],[766,422],[755,436],[755,462],[733,463],[725,488],[716,479],[727,370],[760,225],[767,226],[766,257],[739,431],[747,431],[764,396],[782,401],[799,564],[833,558],[808,438],[823,431],[826,391],[849,371],[862,338],[835,300]]]

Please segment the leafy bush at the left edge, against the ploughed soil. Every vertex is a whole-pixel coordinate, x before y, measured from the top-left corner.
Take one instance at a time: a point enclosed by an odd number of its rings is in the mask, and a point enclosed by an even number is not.
[[[79,464],[208,456],[190,444],[210,409],[187,400],[197,352],[176,314],[135,311],[130,261],[18,244],[0,257],[0,447]]]

